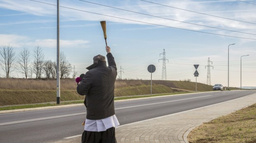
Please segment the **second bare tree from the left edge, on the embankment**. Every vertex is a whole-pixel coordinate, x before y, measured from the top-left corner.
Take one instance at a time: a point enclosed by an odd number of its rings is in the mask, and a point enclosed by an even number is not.
[[[30,52],[28,51],[27,48],[23,48],[23,50],[20,51],[18,55],[17,64],[19,66],[18,71],[20,71],[22,74],[25,74],[26,78],[28,78],[29,60]]]

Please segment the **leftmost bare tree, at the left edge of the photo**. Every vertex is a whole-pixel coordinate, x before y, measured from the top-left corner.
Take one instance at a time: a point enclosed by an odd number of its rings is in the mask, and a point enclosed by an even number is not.
[[[14,70],[15,52],[12,46],[2,46],[0,55],[0,65],[6,74],[6,78],[9,78],[10,73]]]

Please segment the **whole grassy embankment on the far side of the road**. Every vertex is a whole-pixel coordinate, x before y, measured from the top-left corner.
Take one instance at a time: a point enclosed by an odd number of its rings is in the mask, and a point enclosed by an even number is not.
[[[152,81],[152,94],[195,91],[195,83],[188,81]],[[116,80],[115,96],[150,95],[150,80]],[[44,103],[56,100],[56,79],[0,78],[0,106]],[[60,80],[61,100],[79,100],[73,78]],[[211,91],[212,86],[197,83],[197,91]],[[63,96],[63,95],[69,96]],[[73,97],[76,97],[73,99]]]

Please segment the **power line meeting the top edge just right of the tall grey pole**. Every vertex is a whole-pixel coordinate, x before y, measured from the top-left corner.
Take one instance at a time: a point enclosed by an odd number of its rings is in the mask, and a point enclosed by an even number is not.
[[[80,0],[80,1],[88,2],[88,1],[85,1],[85,0]],[[101,6],[104,6],[104,7],[110,7],[110,8],[114,8],[114,9],[119,9],[119,10],[123,10],[123,11],[127,11],[127,12],[133,12],[133,13],[136,13],[136,14],[143,14],[143,15],[153,16],[153,17],[156,17],[156,18],[162,18],[162,19],[167,19],[167,20],[171,20],[171,21],[178,21],[178,20],[174,20],[174,19],[170,19],[170,18],[164,18],[164,17],[160,17],[160,16],[154,16],[154,15],[150,15],[150,14],[144,14],[144,13],[134,12],[134,11],[126,10],[126,9],[121,9],[121,8],[116,8],[116,7],[107,6],[107,5],[97,4],[97,3],[94,3],[94,2],[88,2],[88,3],[92,3],[92,4],[95,4],[95,5],[101,5]],[[206,25],[200,25],[200,24],[195,24],[195,23],[190,23],[190,22],[185,22],[185,21],[178,21],[178,22],[187,23],[187,24],[192,24],[192,25],[198,25],[198,26],[204,26],[204,27],[208,27],[208,28],[215,28],[215,29],[219,29],[219,30],[226,30],[226,31],[231,31],[231,32],[239,32],[239,33],[244,33],[244,34],[256,35],[256,34],[247,33],[247,32],[240,32],[240,31],[235,31],[235,30],[228,30],[228,29],[223,29],[223,28],[216,28],[216,27],[211,27],[211,26],[206,26]]]

